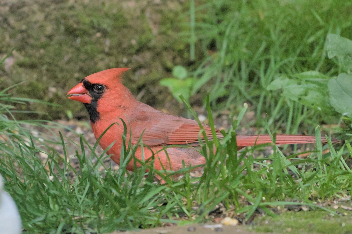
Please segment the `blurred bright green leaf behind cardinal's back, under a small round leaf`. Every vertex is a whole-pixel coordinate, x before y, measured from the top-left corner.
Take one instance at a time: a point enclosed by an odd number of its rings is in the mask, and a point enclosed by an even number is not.
[[[187,78],[184,80],[180,80],[176,78],[165,78],[159,82],[160,85],[168,87],[172,95],[179,102],[182,102],[182,100],[178,96],[180,94],[182,94],[186,100],[189,100],[192,83],[193,83],[192,78]]]

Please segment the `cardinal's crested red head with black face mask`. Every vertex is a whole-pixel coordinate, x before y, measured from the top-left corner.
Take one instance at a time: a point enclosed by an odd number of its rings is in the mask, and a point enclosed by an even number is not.
[[[68,98],[82,102],[88,110],[92,123],[97,121],[101,112],[108,112],[114,105],[130,96],[130,91],[122,85],[122,73],[129,68],[112,68],[96,72],[84,78],[68,91]]]

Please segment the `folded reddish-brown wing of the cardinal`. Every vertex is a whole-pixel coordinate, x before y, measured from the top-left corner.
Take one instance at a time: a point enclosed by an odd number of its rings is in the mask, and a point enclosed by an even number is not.
[[[142,135],[143,144],[155,145],[199,145],[200,127],[195,120],[185,119],[163,112],[143,113],[130,119],[132,129],[132,143],[136,144]],[[213,139],[212,131],[209,126],[203,125],[206,136],[209,140]],[[144,131],[144,132],[143,132]],[[127,129],[128,132],[128,129]],[[142,134],[143,133],[143,134]],[[220,130],[216,129],[216,136],[223,138]],[[127,136],[128,139],[129,136]]]

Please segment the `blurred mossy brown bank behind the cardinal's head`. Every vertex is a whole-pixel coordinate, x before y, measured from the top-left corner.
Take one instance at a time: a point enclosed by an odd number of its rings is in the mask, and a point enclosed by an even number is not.
[[[188,4],[178,1],[1,1],[0,58],[15,51],[0,68],[0,89],[25,81],[12,90],[16,96],[62,106],[21,109],[53,119],[66,110],[85,116],[83,106],[67,100],[67,91],[94,72],[130,67],[126,86],[136,95],[146,89],[140,95],[145,103],[163,103],[170,93],[156,84],[174,65],[187,63],[188,39],[179,36],[188,30],[187,11]],[[48,118],[22,116],[38,117]]]

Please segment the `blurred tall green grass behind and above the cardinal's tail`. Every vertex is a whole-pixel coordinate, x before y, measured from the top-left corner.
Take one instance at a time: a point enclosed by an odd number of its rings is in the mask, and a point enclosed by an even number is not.
[[[339,115],[302,107],[280,92],[267,90],[279,75],[319,71],[337,75],[341,66],[327,58],[326,36],[350,38],[351,2],[327,1],[206,1],[195,9],[199,50],[207,55],[195,70],[192,93],[210,93],[216,109],[237,110],[250,102],[257,126],[268,114],[271,128],[285,126],[297,133],[303,125],[336,121]],[[304,121],[303,121],[304,119]]]

